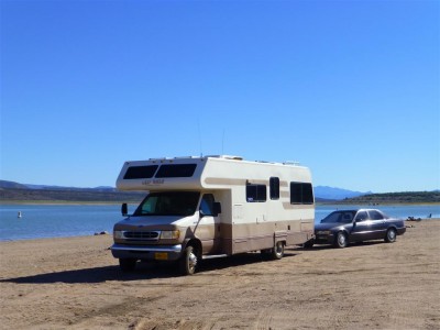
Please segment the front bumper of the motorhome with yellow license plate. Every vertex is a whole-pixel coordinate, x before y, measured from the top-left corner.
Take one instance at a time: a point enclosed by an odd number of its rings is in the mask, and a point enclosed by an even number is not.
[[[111,254],[118,258],[175,261],[182,255],[182,244],[177,245],[124,245],[113,244]]]

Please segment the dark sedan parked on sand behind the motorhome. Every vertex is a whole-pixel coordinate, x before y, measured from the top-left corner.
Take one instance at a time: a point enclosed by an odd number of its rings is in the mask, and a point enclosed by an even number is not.
[[[331,212],[321,223],[315,226],[316,238],[312,243],[332,244],[336,248],[370,240],[394,243],[397,235],[405,231],[404,220],[389,218],[380,210],[339,210]],[[309,243],[308,246],[310,245]]]

